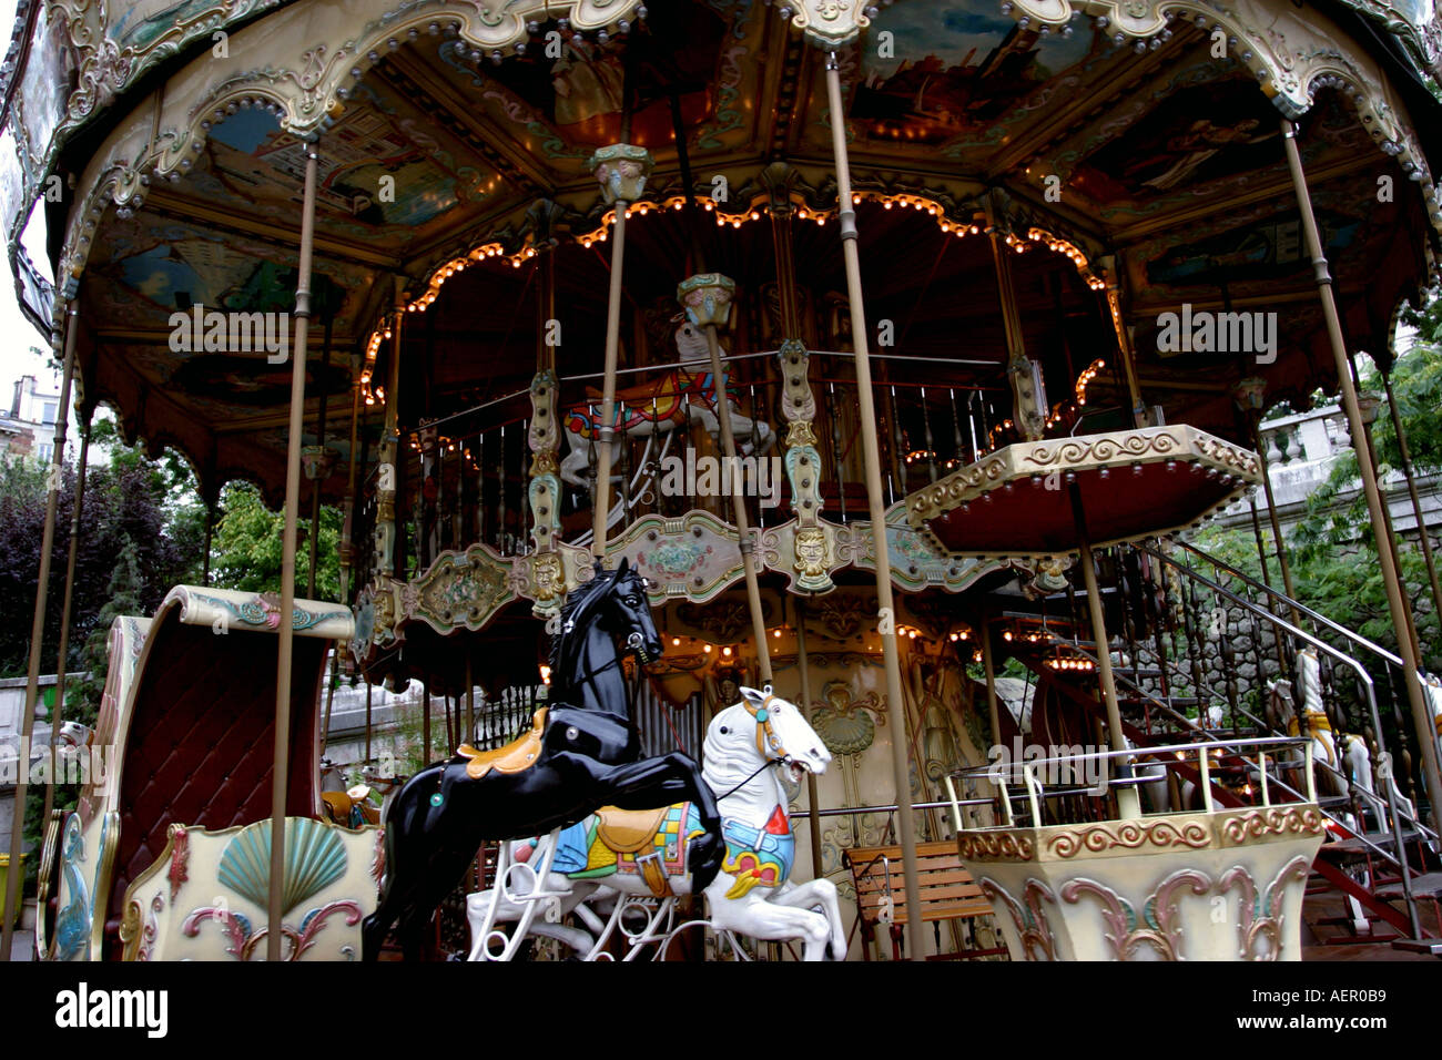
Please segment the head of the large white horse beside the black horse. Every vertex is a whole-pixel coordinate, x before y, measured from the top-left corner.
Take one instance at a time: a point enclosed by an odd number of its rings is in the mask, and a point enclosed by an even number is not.
[[[831,751],[795,704],[754,688],[741,689],[741,701],[720,711],[707,727],[702,757],[728,772],[751,773],[766,763],[782,763],[800,780],[806,773],[820,774],[831,763]]]

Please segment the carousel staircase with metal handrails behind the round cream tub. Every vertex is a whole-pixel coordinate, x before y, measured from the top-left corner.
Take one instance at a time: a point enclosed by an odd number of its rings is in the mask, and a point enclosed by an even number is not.
[[[1295,728],[1283,731],[1278,710],[1283,701],[1269,682],[1296,685],[1298,653],[1315,652],[1332,738],[1350,750],[1366,780],[1348,779],[1341,753],[1335,761],[1314,756],[1317,802],[1331,838],[1314,862],[1308,894],[1337,891],[1347,907],[1344,916],[1314,920],[1314,936],[1324,943],[1394,942],[1442,956],[1436,901],[1442,845],[1425,823],[1426,811],[1415,809],[1425,792],[1410,769],[1417,754],[1406,723],[1402,661],[1185,542],[1116,547],[1097,552],[1097,565],[1123,731],[1138,751],[1296,736]],[[1038,688],[1044,681],[1100,734],[1097,646],[1080,594],[1069,588],[999,617],[1007,650],[1038,676]],[[1296,710],[1301,717],[1299,702]],[[1366,756],[1347,744],[1348,734],[1364,741]],[[1136,769],[1148,769],[1146,761],[1139,754]],[[1230,785],[1214,773],[1213,802],[1246,805],[1256,783],[1298,795],[1292,785],[1304,782],[1295,764],[1269,769],[1265,780],[1231,777]],[[1145,786],[1154,792],[1148,809],[1182,809],[1177,802],[1197,795],[1201,777],[1188,764],[1168,760],[1165,770],[1151,769],[1159,780]],[[1168,773],[1175,780],[1168,783]],[[1156,806],[1158,799],[1171,805]]]

